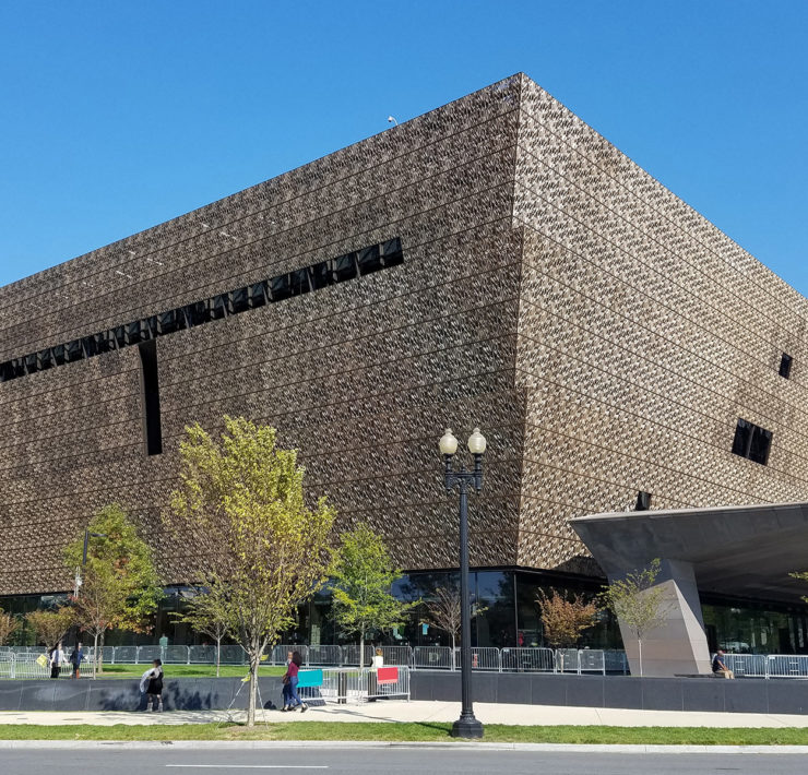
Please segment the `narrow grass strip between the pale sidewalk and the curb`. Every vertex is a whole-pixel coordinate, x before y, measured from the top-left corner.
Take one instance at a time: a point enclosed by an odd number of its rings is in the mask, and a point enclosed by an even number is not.
[[[0,725],[2,740],[389,740],[451,741],[451,724],[346,724],[293,722],[98,727]],[[808,746],[808,729],[705,729],[703,727],[486,726],[489,742],[642,743],[694,746]]]

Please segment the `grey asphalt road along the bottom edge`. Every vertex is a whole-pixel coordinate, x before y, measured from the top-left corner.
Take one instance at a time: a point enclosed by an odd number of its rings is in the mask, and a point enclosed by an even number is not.
[[[801,754],[536,753],[468,749],[273,749],[273,750],[0,750],[2,775],[95,772],[112,775],[234,775],[323,773],[324,775],[668,775],[740,773],[803,775]]]

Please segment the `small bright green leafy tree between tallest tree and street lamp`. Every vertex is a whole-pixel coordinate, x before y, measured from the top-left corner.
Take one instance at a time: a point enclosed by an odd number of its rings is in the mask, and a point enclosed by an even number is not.
[[[404,603],[390,591],[401,579],[384,539],[365,523],[341,536],[334,573],[334,618],[346,634],[359,636],[359,667],[365,664],[368,634],[401,627],[414,603]]]

